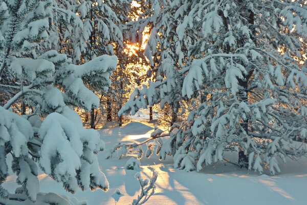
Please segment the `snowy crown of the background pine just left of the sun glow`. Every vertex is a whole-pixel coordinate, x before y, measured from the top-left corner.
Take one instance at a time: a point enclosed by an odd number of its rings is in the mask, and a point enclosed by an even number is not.
[[[73,59],[87,62],[102,54],[113,54],[112,43],[122,44],[120,19],[112,7],[120,7],[127,1],[74,1],[69,9],[83,22],[82,31],[76,30],[72,38]],[[80,34],[80,35],[77,35]]]

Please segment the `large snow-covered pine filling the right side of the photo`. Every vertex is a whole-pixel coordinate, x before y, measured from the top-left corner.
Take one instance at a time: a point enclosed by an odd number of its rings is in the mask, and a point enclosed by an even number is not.
[[[271,174],[280,172],[277,158],[306,155],[292,146],[307,137],[307,76],[297,61],[306,41],[306,2],[176,0],[163,5],[160,16],[173,8],[174,44],[180,43],[178,53],[187,49],[182,66],[170,69],[173,78],[136,89],[119,114],[163,104],[179,89],[182,100],[190,100],[187,119],[152,139],[162,159],[173,155],[174,167],[187,171],[223,161],[225,151],[238,152],[240,166],[260,173],[267,167]],[[152,55],[156,39],[148,45]],[[169,87],[174,80],[176,87]],[[162,142],[166,135],[170,139]]]

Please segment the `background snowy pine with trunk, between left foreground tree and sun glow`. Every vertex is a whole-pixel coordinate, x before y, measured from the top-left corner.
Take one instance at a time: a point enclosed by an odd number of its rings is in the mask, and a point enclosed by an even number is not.
[[[118,53],[117,48],[123,47],[122,29],[127,22],[127,12],[129,10],[130,0],[116,1],[66,1],[67,9],[76,13],[83,22],[83,29],[76,27],[74,34],[69,35],[66,30],[63,42],[68,42],[68,50],[71,50],[73,62],[83,64],[96,56]],[[96,81],[95,78],[87,79]],[[113,81],[113,80],[112,80]],[[92,90],[101,95],[107,95],[107,107],[111,108],[111,93],[102,93],[102,85],[99,81],[91,87]],[[113,86],[114,87],[114,86]],[[107,113],[109,113],[107,109]],[[86,114],[87,115],[87,114]],[[108,115],[108,114],[107,114]],[[97,110],[91,110],[91,128],[95,128],[95,119],[97,119]]]

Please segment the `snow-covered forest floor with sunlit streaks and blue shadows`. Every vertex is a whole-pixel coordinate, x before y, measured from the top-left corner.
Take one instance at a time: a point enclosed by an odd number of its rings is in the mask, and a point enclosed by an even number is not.
[[[118,142],[143,141],[150,136],[152,124],[144,119],[134,120],[124,127],[104,128],[99,132],[105,141],[106,150]],[[146,124],[146,125],[145,125]],[[145,149],[144,149],[145,150]],[[108,192],[79,190],[76,194],[64,191],[60,183],[55,182],[46,174],[40,174],[40,191],[55,192],[76,201],[87,201],[89,205],[115,204],[112,195],[116,189],[124,194],[117,204],[130,204],[140,193],[140,185],[134,177],[137,171],[125,170],[126,161],[131,157],[105,159],[106,152],[98,155],[100,168],[105,173],[110,189]],[[236,160],[236,155],[228,153],[228,159]],[[299,162],[288,159],[280,164],[281,173],[270,176],[269,173],[259,175],[254,171],[240,169],[230,163],[221,162],[206,167],[202,172],[184,172],[175,170],[172,158],[159,161],[155,154],[141,159],[141,174],[150,177],[152,169],[159,176],[156,193],[147,204],[306,204],[307,201],[307,159]],[[15,175],[8,177],[4,187],[14,192]]]

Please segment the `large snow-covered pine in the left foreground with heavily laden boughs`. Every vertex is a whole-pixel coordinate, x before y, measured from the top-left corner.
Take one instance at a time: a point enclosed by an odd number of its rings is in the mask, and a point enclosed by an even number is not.
[[[117,57],[103,55],[76,66],[54,50],[38,55],[49,38],[51,16],[55,9],[61,11],[52,3],[0,1],[0,96],[6,90],[11,94],[0,107],[0,203],[4,204],[15,204],[14,200],[70,204],[57,195],[39,194],[38,166],[72,193],[78,187],[108,189],[96,156],[104,142],[98,132],[83,128],[72,107],[98,107],[99,99],[83,82],[92,78],[90,86],[99,81],[107,89]],[[11,110],[21,97],[32,107],[24,116]],[[1,186],[11,174],[10,165],[20,185],[14,195]]]

